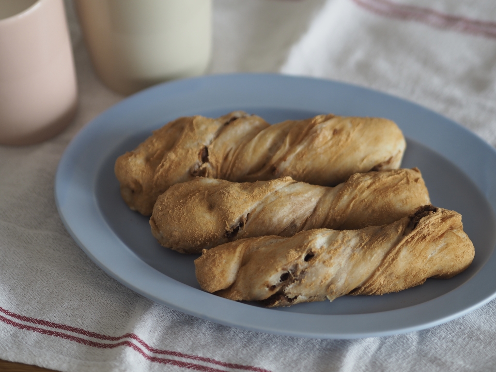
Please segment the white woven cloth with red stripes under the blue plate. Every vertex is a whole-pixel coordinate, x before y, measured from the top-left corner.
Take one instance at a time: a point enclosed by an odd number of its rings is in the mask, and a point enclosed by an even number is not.
[[[70,2],[80,104],[55,138],[0,146],[0,359],[60,371],[491,371],[496,301],[431,329],[320,340],[230,328],[98,268],[54,200],[64,148],[123,99],[96,78]],[[493,0],[215,0],[211,73],[281,71],[413,100],[496,145]],[[495,170],[496,171],[496,170]]]

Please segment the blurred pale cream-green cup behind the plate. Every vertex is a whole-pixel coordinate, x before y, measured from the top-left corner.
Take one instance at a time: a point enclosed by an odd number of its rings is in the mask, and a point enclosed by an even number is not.
[[[99,77],[119,93],[208,66],[211,0],[76,0],[76,8]]]

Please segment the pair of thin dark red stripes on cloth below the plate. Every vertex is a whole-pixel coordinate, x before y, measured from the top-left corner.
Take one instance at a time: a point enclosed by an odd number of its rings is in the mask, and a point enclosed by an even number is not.
[[[87,337],[97,338],[97,339],[100,339],[100,340],[119,341],[119,340],[122,340],[124,338],[131,338],[131,339],[137,341],[147,351],[149,351],[150,353],[154,353],[154,354],[171,355],[171,356],[185,358],[185,359],[192,359],[192,360],[195,360],[195,361],[200,361],[200,362],[206,362],[206,363],[215,364],[215,365],[222,366],[222,367],[225,367],[225,368],[232,368],[232,369],[245,370],[245,371],[254,371],[254,372],[270,372],[269,370],[265,370],[265,369],[258,368],[258,367],[244,366],[244,365],[239,365],[239,364],[234,364],[234,363],[220,362],[220,361],[217,361],[217,360],[211,359],[211,358],[205,358],[205,357],[200,357],[200,356],[196,356],[196,355],[188,355],[188,354],[183,354],[183,353],[180,353],[180,352],[170,351],[170,350],[156,349],[156,348],[153,348],[153,347],[149,346],[146,342],[144,342],[141,338],[139,338],[134,333],[126,333],[126,334],[124,334],[122,336],[108,336],[108,335],[103,335],[103,334],[99,334],[99,333],[95,333],[95,332],[90,332],[90,331],[87,331],[87,330],[82,329],[82,328],[72,327],[72,326],[69,326],[69,325],[66,325],[66,324],[54,323],[54,322],[47,321],[47,320],[42,320],[42,319],[37,319],[37,318],[32,318],[32,317],[28,317],[28,316],[16,314],[15,312],[5,310],[5,309],[3,309],[1,307],[0,307],[0,312],[3,312],[5,315],[8,315],[8,316],[10,316],[12,318],[15,318],[15,319],[18,319],[18,320],[21,320],[21,321],[24,321],[24,322],[38,324],[38,325],[43,325],[43,326],[46,326],[46,327],[51,327],[51,328],[56,328],[56,329],[62,329],[62,330],[65,330],[65,331],[69,331],[69,332],[81,334],[81,335],[84,335],[84,336],[87,336]],[[93,346],[93,347],[98,347],[98,348],[102,348],[102,349],[113,349],[115,347],[123,346],[123,345],[124,346],[129,346],[129,347],[133,348],[134,350],[138,351],[147,360],[150,360],[152,362],[165,363],[165,362],[160,362],[160,361],[162,361],[162,360],[169,361],[169,359],[151,357],[151,356],[145,354],[142,349],[140,349],[137,345],[133,344],[130,341],[122,341],[122,342],[114,343],[114,344],[103,344],[103,343],[99,343],[99,342],[85,340],[83,338],[76,337],[76,336],[69,335],[69,334],[62,333],[62,332],[51,331],[51,330],[46,330],[46,329],[43,329],[43,328],[38,328],[38,327],[33,327],[33,326],[28,326],[28,325],[20,324],[20,323],[17,323],[17,322],[13,322],[12,320],[7,319],[7,318],[5,318],[5,317],[3,317],[1,315],[0,315],[0,320],[3,321],[4,323],[7,323],[9,325],[13,325],[13,326],[15,326],[17,328],[20,328],[20,329],[30,330],[30,331],[34,331],[34,332],[38,332],[38,333],[43,333],[43,334],[50,335],[50,336],[61,337],[61,338],[64,338],[64,339],[67,339],[67,340],[70,340],[70,341],[75,341],[75,342],[78,342],[80,344],[84,344],[84,345],[87,345],[87,346]],[[15,325],[14,325],[14,323],[15,323]],[[158,360],[156,361],[154,359],[158,359]],[[173,361],[173,360],[170,360],[170,361],[172,361],[172,362],[178,362],[178,363],[184,363],[184,362]],[[176,363],[173,363],[173,364],[176,364]],[[184,363],[184,364],[185,364],[185,366],[180,366],[180,367],[186,367],[186,365],[189,365],[187,363]],[[191,366],[198,366],[198,367],[201,367],[201,368],[204,367],[204,366],[193,365],[193,364],[191,364]],[[196,368],[193,368],[193,367],[186,367],[186,368],[196,369]],[[209,368],[209,367],[205,367],[205,368]],[[199,371],[209,371],[209,372],[212,371],[212,372],[214,372],[214,371],[220,371],[220,370],[208,369],[208,370],[199,370]]]

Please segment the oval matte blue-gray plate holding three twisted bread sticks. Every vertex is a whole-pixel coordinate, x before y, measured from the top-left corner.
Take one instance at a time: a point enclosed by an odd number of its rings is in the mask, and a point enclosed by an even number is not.
[[[116,158],[181,116],[218,117],[234,110],[269,123],[317,114],[383,117],[407,138],[403,167],[418,167],[434,205],[463,216],[475,246],[472,265],[448,280],[384,296],[265,309],[202,292],[196,256],[162,248],[148,219],[129,210],[114,176]],[[317,338],[384,336],[432,327],[496,297],[496,151],[430,110],[336,81],[272,74],[204,76],[133,95],[87,124],[59,164],[55,197],[77,244],[103,270],[143,296],[218,323]]]

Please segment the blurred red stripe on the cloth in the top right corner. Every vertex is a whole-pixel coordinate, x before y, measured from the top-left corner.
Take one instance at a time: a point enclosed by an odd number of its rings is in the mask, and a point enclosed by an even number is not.
[[[441,13],[420,6],[403,5],[389,0],[352,0],[380,15],[414,20],[437,28],[496,38],[496,23]]]

